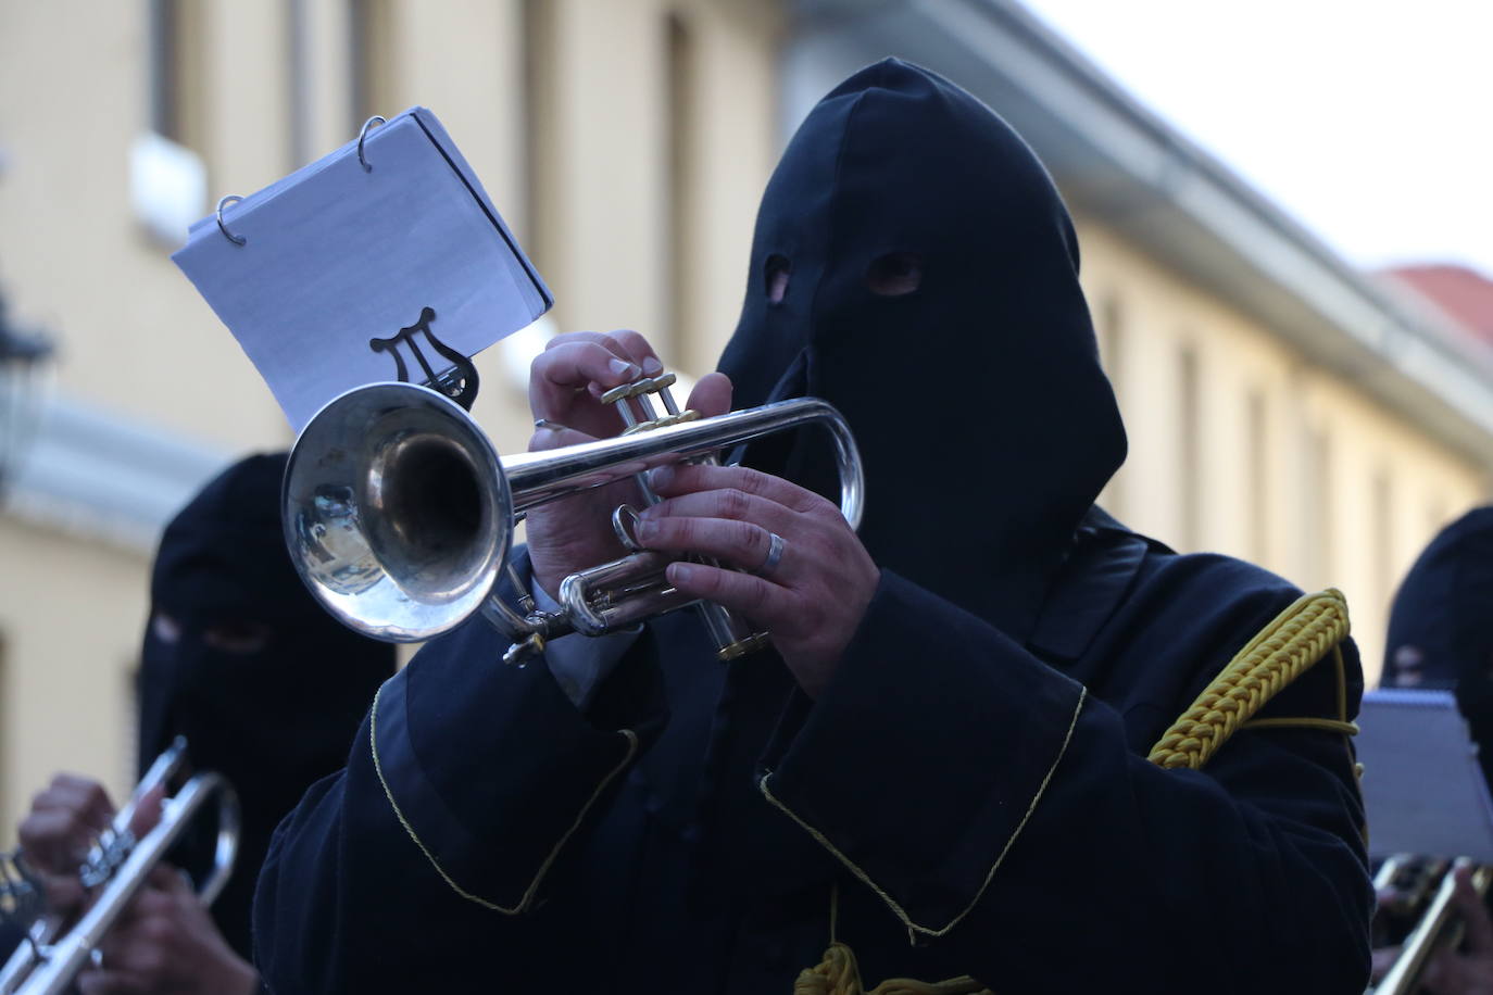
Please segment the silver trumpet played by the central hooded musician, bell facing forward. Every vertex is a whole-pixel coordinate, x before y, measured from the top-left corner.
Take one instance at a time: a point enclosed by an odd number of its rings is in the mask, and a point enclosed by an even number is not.
[[[517,604],[494,595],[499,574],[514,573],[508,553],[529,509],[627,477],[655,501],[649,468],[714,461],[721,451],[805,425],[829,431],[841,513],[853,528],[860,524],[860,455],[829,403],[797,398],[696,418],[678,409],[672,383],[673,374],[663,374],[608,391],[602,400],[624,424],[617,439],[502,458],[470,415],[433,389],[375,383],[348,391],[311,419],[291,449],[282,500],[291,559],[333,616],[385,641],[426,640],[481,613],[512,641],[505,661],[523,662],[567,633],[602,635],[700,604],[723,659],[751,652],[766,634],[672,588],[664,568],[675,558],[635,542],[627,506],[612,515],[612,527],[632,552],[566,577],[560,612],[540,612],[517,576]]]

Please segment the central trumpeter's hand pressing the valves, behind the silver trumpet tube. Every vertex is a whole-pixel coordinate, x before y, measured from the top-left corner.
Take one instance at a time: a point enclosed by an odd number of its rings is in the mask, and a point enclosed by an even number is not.
[[[529,407],[543,422],[529,440],[530,452],[620,434],[623,421],[612,404],[602,404],[602,394],[660,373],[663,364],[636,331],[555,336],[529,368]],[[687,406],[706,418],[723,415],[730,409],[730,380],[711,373]],[[626,480],[533,509],[526,530],[534,583],[555,597],[566,576],[624,555],[612,533],[612,509],[638,507],[640,500],[636,483]]]

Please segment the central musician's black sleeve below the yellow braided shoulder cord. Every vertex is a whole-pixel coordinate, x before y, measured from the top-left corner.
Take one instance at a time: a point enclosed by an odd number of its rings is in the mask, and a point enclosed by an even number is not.
[[[1206,683],[1291,600],[1178,594],[1124,652]],[[1336,718],[1336,689],[1329,661],[1275,712]],[[1241,729],[1200,771],[1162,770],[1133,738],[1084,686],[888,573],[760,791],[909,943],[993,991],[1362,992],[1372,892],[1345,737]]]

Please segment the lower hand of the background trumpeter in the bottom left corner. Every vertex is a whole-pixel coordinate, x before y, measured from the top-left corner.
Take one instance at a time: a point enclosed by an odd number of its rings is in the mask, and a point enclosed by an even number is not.
[[[157,867],[99,946],[82,995],[252,995],[258,974],[233,952],[182,874]]]

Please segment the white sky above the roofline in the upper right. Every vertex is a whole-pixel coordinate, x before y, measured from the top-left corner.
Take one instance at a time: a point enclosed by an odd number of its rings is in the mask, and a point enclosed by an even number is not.
[[[1024,3],[1348,261],[1493,277],[1493,1]]]

